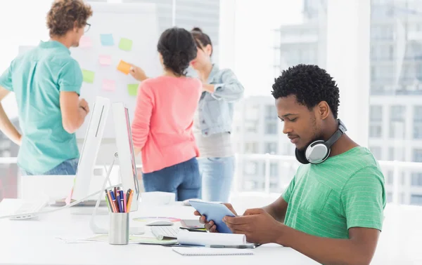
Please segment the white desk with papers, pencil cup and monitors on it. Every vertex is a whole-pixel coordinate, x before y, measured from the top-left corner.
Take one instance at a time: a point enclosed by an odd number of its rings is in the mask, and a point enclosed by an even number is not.
[[[19,201],[4,200],[0,215]],[[236,205],[235,205],[236,206]],[[245,208],[237,207],[238,212]],[[0,219],[0,264],[317,264],[288,247],[263,245],[253,256],[184,257],[171,247],[159,245],[109,245],[108,243],[65,243],[60,238],[88,238],[89,215],[75,215],[70,208],[43,215],[39,220]],[[73,214],[72,214],[73,213]],[[193,218],[193,208],[181,205],[140,206],[133,217],[169,216]],[[372,264],[422,264],[422,208],[393,207],[385,211],[384,231]],[[98,217],[106,222],[107,216]],[[132,221],[132,224],[136,222]]]

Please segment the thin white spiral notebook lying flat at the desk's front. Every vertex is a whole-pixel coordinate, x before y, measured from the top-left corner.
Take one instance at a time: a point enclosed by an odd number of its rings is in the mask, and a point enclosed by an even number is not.
[[[172,247],[174,252],[183,256],[240,256],[253,255],[252,250],[238,250],[230,248],[211,247]]]

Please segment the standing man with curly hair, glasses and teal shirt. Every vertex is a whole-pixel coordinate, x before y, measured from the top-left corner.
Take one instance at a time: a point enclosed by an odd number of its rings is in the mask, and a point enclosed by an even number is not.
[[[49,41],[11,62],[0,77],[0,100],[14,92],[20,128],[12,125],[0,103],[0,130],[20,145],[23,175],[75,175],[79,150],[75,131],[89,112],[79,99],[82,71],[70,56],[89,28],[91,7],[82,0],[54,1],[47,14]]]

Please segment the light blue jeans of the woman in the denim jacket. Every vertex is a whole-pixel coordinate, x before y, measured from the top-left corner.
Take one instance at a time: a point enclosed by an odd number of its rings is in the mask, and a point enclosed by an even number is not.
[[[234,156],[198,158],[202,177],[202,199],[204,201],[229,201],[234,178]]]

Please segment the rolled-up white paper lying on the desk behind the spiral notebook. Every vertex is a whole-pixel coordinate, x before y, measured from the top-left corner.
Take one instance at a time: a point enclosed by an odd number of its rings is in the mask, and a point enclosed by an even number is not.
[[[180,231],[177,242],[184,245],[244,245],[246,236],[235,233],[200,233]]]

